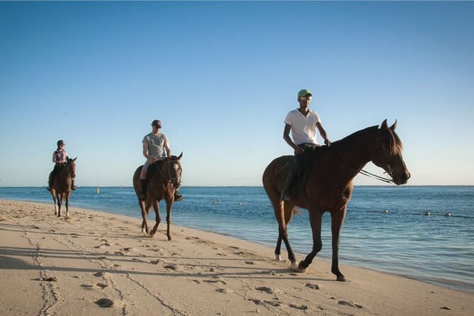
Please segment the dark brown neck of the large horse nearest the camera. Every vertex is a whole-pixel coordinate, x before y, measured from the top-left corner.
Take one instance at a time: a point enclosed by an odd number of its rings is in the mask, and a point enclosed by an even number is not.
[[[376,147],[377,127],[366,128],[334,142],[331,146],[336,161],[347,169],[352,178],[372,160]]]

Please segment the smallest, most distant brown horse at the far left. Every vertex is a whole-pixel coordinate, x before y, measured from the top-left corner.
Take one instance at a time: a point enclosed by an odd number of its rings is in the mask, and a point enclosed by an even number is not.
[[[71,196],[72,179],[76,177],[76,158],[67,158],[64,165],[56,171],[52,180],[51,195],[55,203],[55,215],[61,216],[62,201],[66,200],[66,217],[69,217],[69,197]]]

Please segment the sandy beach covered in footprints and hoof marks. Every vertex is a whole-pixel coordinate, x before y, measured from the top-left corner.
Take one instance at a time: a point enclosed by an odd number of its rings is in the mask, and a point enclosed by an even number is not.
[[[270,247],[140,224],[0,200],[0,315],[474,315],[470,293],[345,265],[340,283],[329,261],[294,273]]]

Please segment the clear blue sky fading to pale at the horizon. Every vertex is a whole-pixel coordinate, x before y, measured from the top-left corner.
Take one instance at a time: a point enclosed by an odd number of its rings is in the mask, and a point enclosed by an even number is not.
[[[132,186],[154,119],[183,186],[261,186],[300,89],[333,142],[397,120],[409,185],[474,185],[473,87],[474,2],[0,1],[0,186],[46,186],[57,140]]]

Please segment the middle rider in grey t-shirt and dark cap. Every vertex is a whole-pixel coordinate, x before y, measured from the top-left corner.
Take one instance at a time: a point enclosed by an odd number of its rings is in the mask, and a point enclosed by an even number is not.
[[[142,200],[147,199],[148,167],[155,162],[164,160],[166,157],[171,157],[171,148],[169,147],[168,137],[160,131],[161,128],[162,122],[160,120],[153,120],[152,132],[145,135],[142,140],[143,156],[147,159],[145,164],[143,164],[142,171],[140,172],[140,181],[142,183],[142,194],[140,195],[140,199]],[[174,194],[174,201],[181,201],[182,199],[183,196],[176,191]]]

